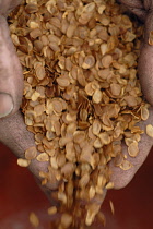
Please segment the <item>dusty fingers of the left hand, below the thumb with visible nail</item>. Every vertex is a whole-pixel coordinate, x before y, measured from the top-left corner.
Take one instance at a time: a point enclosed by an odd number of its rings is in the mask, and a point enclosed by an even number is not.
[[[20,111],[11,117],[0,119],[0,141],[20,158],[25,158],[24,152],[35,146],[34,134],[26,130]],[[28,169],[40,179],[39,171],[48,172],[48,162],[39,162],[34,159],[31,161]],[[46,186],[50,190],[56,190],[58,186],[57,179],[50,176]]]

